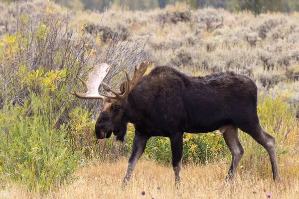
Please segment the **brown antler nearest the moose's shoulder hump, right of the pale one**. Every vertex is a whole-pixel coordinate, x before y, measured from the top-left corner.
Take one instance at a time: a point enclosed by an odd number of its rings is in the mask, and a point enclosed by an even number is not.
[[[110,86],[108,86],[104,82],[102,82],[103,87],[108,88],[115,96],[108,96],[105,94],[101,94],[101,95],[105,96],[107,98],[110,98],[110,99],[114,99],[114,100],[126,99],[129,95],[130,91],[132,91],[134,89],[134,87],[136,87],[136,85],[138,84],[138,82],[140,81],[142,76],[145,74],[145,72],[148,69],[148,66],[149,66],[149,61],[142,62],[139,66],[139,69],[137,69],[137,66],[135,65],[134,75],[133,75],[132,80],[130,80],[128,73],[125,71],[127,81],[122,83],[122,84],[124,84],[124,87],[125,87],[125,93],[123,95],[120,95],[117,91],[113,90]]]

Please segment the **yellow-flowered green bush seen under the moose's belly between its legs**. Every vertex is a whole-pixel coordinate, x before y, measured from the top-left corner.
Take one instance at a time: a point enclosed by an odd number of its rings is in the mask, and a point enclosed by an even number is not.
[[[128,151],[131,151],[132,149],[133,137],[134,126],[130,124],[128,127],[126,141],[128,145]],[[219,133],[184,133],[182,161],[183,163],[205,163],[206,161],[212,161],[216,157],[223,155],[223,147],[224,140],[222,135]],[[149,138],[144,156],[152,161],[157,161],[164,164],[171,163],[172,155],[169,138]]]

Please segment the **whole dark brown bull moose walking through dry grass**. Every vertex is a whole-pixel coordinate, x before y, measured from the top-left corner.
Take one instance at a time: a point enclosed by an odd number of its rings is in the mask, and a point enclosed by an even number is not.
[[[270,156],[273,179],[281,180],[275,150],[275,137],[259,123],[257,87],[244,75],[223,72],[204,77],[187,76],[174,68],[159,66],[145,75],[149,61],[135,66],[132,80],[112,89],[103,82],[110,66],[94,65],[88,81],[79,80],[86,92],[71,93],[80,99],[101,99],[103,110],[95,124],[98,139],[112,133],[124,141],[127,124],[135,127],[132,153],[124,184],[140,159],[151,136],[170,138],[175,183],[180,182],[183,155],[183,133],[207,133],[219,130],[231,153],[231,164],[226,176],[229,181],[244,154],[238,138],[238,128],[261,144]],[[107,94],[99,93],[99,87]]]

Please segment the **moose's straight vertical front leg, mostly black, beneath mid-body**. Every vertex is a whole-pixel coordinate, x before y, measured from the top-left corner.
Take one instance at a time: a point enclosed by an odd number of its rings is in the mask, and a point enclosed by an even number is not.
[[[170,137],[172,152],[172,168],[174,171],[175,184],[180,183],[180,170],[182,167],[183,157],[183,135],[182,133],[174,134]]]

